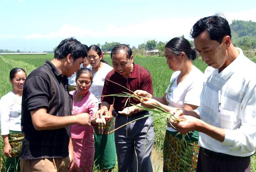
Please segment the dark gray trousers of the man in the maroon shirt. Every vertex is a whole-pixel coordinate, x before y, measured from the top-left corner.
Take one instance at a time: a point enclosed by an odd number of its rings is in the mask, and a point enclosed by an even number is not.
[[[115,128],[140,117],[142,115],[119,115],[115,118]],[[150,155],[154,146],[154,136],[152,117],[142,118],[116,130],[118,172],[153,172]]]

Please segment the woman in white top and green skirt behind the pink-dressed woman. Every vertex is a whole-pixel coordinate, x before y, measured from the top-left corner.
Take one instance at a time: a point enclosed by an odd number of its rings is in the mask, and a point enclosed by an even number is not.
[[[105,77],[113,70],[111,66],[103,59],[101,48],[97,45],[91,45],[88,48],[88,62],[91,64],[89,69],[94,74],[94,79],[89,91],[98,98],[99,107],[101,106],[101,93],[104,86]],[[113,106],[111,106],[113,107]],[[112,109],[109,109],[108,115],[112,116]],[[114,133],[108,134],[109,131],[114,129],[114,117],[105,125],[98,124],[94,127],[94,165],[99,166],[101,172],[110,172],[116,163],[115,152],[115,136]]]

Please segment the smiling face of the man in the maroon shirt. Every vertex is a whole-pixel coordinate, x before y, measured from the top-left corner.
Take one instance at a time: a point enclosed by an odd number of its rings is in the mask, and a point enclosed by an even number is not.
[[[133,56],[130,59],[126,56],[126,52],[120,50],[117,54],[112,55],[112,64],[116,72],[125,78],[128,78],[133,70]]]

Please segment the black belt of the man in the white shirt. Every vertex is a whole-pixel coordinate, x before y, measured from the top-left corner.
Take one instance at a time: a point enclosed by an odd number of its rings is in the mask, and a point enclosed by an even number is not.
[[[243,160],[243,159],[248,159],[250,158],[249,156],[247,157],[239,157],[239,156],[233,156],[233,155],[228,155],[225,153],[216,153],[214,151],[210,151],[208,149],[205,149],[203,147],[200,147],[200,151],[206,156],[209,156],[214,159],[220,159],[220,160],[229,160],[229,161],[236,161],[236,160]]]

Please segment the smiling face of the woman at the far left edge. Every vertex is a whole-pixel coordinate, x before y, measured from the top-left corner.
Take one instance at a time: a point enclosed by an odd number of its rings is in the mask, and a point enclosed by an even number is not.
[[[13,85],[13,90],[22,91],[25,80],[26,80],[26,73],[22,70],[17,72],[14,75],[13,79],[10,79],[10,82]]]

